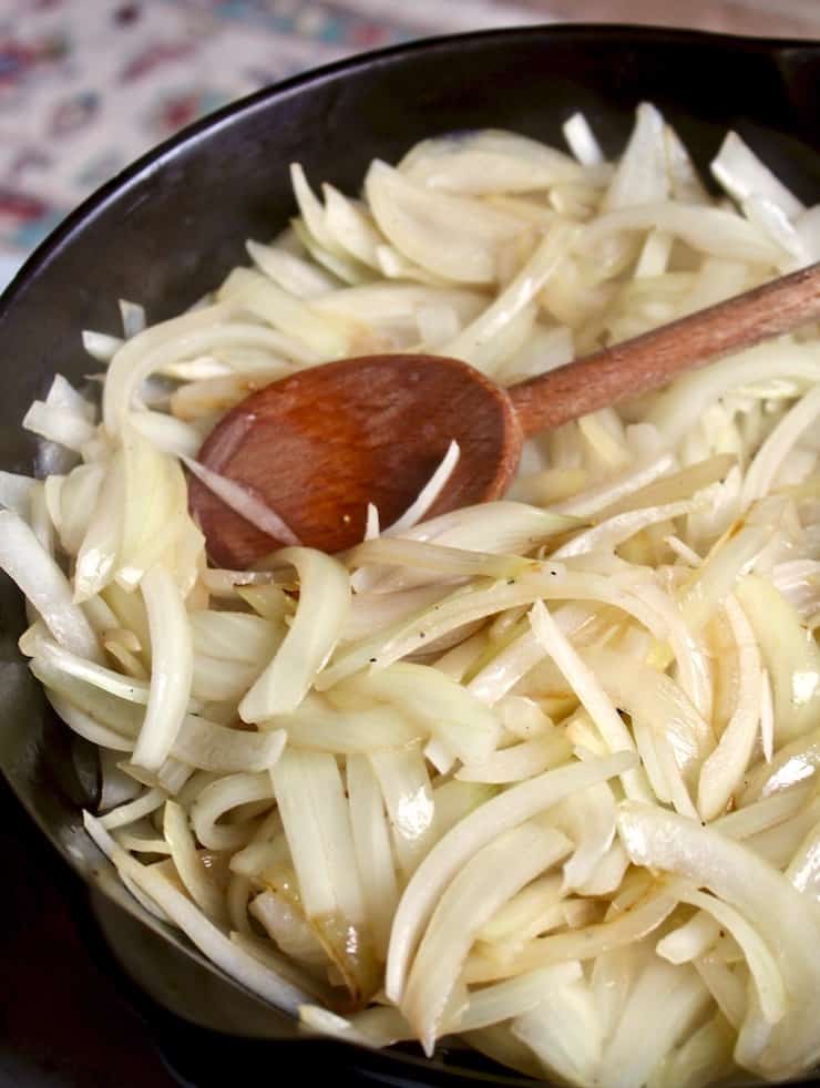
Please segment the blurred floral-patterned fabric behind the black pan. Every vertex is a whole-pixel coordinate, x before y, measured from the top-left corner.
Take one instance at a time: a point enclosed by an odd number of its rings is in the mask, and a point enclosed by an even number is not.
[[[0,288],[98,185],[191,121],[348,53],[553,19],[820,37],[820,0],[0,0]],[[768,13],[767,13],[768,11]],[[813,12],[813,14],[812,14]]]

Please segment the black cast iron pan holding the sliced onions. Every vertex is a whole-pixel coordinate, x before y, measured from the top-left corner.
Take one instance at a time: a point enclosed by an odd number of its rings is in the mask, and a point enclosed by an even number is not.
[[[817,203],[819,84],[818,44],[576,25],[433,39],[262,91],[100,189],[0,300],[0,464],[31,471],[35,449],[20,431],[21,418],[55,370],[75,380],[89,370],[80,330],[116,332],[117,298],[143,302],[152,321],[170,317],[245,261],[246,238],[269,237],[287,222],[294,213],[290,162],[300,162],[314,182],[355,192],[373,157],[394,161],[422,137],[492,126],[561,144],[561,125],[576,110],[614,154],[635,105],[648,100],[677,126],[701,167],[726,130],[736,129],[802,199]],[[98,889],[94,914],[117,961],[136,975],[140,992],[151,994],[134,1000],[168,1060],[185,1082],[203,1088],[224,1084],[237,1068],[265,1076],[281,1069],[284,1044],[271,1050],[260,1037],[298,1039],[290,1018],[204,975],[184,941],[176,938],[182,951],[175,952],[135,926],[133,915],[142,913],[111,881],[79,823],[88,786],[74,771],[68,730],[17,650],[23,609],[6,579],[0,619],[0,769],[64,861]],[[325,1053],[326,1044],[290,1043],[288,1054],[293,1047],[307,1058]],[[479,1072],[461,1051],[432,1063],[417,1054],[342,1049],[341,1059],[332,1053],[338,1071],[348,1070],[347,1082],[353,1076],[393,1085],[524,1082],[489,1064]]]

